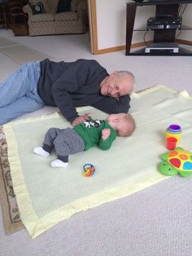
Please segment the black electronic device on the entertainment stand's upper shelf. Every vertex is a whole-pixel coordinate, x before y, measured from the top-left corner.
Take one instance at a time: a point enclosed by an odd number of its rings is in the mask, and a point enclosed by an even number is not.
[[[181,29],[182,17],[173,15],[157,15],[147,20],[146,29]]]

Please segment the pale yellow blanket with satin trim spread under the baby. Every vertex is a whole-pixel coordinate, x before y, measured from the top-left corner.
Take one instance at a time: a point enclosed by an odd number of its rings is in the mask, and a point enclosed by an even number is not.
[[[32,238],[81,210],[129,196],[164,179],[158,164],[165,148],[165,130],[177,123],[182,127],[180,146],[192,150],[192,98],[184,90],[176,92],[165,86],[132,94],[131,113],[136,130],[128,138],[117,138],[110,150],[90,148],[72,155],[66,169],[53,169],[51,157],[39,157],[33,147],[41,145],[51,126],[67,127],[59,113],[13,121],[4,126],[8,144],[13,187],[20,217]],[[92,117],[107,115],[95,108],[78,108]],[[85,163],[96,172],[82,175]],[[183,178],[181,178],[183,179]],[[129,213],[128,213],[129,214]]]

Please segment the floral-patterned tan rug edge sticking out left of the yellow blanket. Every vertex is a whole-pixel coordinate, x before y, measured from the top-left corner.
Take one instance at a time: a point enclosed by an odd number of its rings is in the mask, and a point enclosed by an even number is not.
[[[7,158],[7,141],[0,126],[0,201],[4,230],[7,235],[24,228],[13,190],[9,161]]]

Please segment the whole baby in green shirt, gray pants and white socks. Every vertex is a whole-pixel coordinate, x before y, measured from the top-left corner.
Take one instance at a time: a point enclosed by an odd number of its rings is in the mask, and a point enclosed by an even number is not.
[[[130,114],[118,113],[109,115],[106,120],[93,120],[87,114],[87,121],[73,128],[50,128],[46,132],[43,146],[36,147],[33,152],[41,157],[49,157],[55,148],[57,159],[52,167],[67,167],[68,156],[76,152],[88,150],[95,145],[107,150],[118,136],[129,136],[135,129],[135,122]]]

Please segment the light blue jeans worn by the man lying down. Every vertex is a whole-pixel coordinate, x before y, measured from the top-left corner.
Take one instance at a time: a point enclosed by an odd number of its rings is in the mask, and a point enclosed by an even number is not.
[[[31,62],[0,84],[0,125],[45,106],[37,93],[40,73],[40,63]]]

